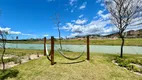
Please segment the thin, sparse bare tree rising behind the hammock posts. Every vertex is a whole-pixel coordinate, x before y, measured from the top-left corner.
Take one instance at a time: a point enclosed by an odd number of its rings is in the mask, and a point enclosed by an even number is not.
[[[61,39],[61,32],[60,32],[60,15],[59,14],[55,14],[55,16],[52,17],[52,19],[54,21],[54,24],[58,28],[60,48],[62,50],[62,41],[61,41],[62,39]]]

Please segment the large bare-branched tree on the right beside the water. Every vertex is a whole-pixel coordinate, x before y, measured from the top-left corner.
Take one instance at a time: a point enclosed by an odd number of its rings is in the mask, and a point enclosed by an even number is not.
[[[141,25],[142,0],[105,0],[105,5],[112,23],[119,29],[122,39],[120,57],[123,57],[123,45],[125,42],[124,31],[127,27]]]

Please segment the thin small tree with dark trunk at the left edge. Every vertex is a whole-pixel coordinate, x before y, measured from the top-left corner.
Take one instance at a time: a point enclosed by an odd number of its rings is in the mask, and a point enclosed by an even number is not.
[[[2,31],[0,30],[0,48],[3,49],[3,52],[1,54],[1,61],[2,61],[2,65],[3,65],[3,71],[5,70],[5,63],[4,63],[4,54],[6,51],[6,41],[7,41],[7,35],[8,32],[7,31]]]

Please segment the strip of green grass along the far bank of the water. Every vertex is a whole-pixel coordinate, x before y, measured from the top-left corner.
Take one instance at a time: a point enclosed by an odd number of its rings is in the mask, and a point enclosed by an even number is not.
[[[21,44],[43,44],[43,41],[8,41],[8,43],[21,43]],[[47,40],[47,44],[50,44],[50,40]],[[58,40],[55,40],[55,44],[59,44]],[[62,44],[86,44],[86,40],[62,40]],[[91,45],[121,45],[121,39],[110,40],[90,40]],[[125,39],[125,46],[142,46],[142,38]]]

